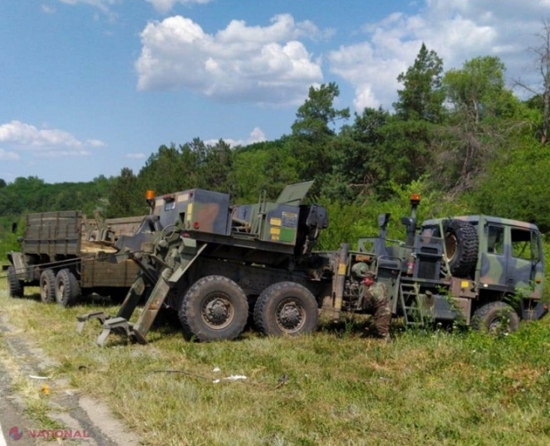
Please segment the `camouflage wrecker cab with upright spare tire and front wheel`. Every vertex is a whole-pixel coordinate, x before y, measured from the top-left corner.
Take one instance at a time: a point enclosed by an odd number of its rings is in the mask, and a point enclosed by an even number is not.
[[[429,246],[423,245],[427,240],[434,252],[439,240],[443,257],[431,259],[438,262],[441,284],[425,290],[424,304],[436,320],[451,320],[461,312],[465,322],[476,328],[494,327],[495,321],[507,319],[514,330],[520,318],[546,314],[547,305],[541,302],[545,262],[535,224],[489,215],[427,220],[421,223],[411,251],[412,275],[405,274],[403,282],[418,284],[426,278],[421,256],[422,247]],[[499,316],[503,311],[507,317]]]

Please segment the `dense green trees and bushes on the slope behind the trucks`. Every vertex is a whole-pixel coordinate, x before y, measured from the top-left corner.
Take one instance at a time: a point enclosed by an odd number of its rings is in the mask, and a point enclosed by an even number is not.
[[[422,44],[413,66],[397,77],[403,88],[393,111],[365,108],[351,116],[334,106],[340,90],[331,82],[310,88],[289,133],[274,141],[161,145],[138,172],[122,168],[120,176],[90,183],[0,179],[0,255],[16,246],[13,223],[27,212],[143,215],[146,190],[194,187],[255,202],[309,179],[316,180],[311,200],[331,213],[326,248],[375,232],[378,213],[406,213],[409,192],[423,194],[420,217],[501,215],[538,223],[547,233],[550,151],[541,137],[547,92],[519,100],[505,85],[505,70],[500,59],[479,57],[444,72],[443,60]],[[398,230],[393,224],[390,234]]]

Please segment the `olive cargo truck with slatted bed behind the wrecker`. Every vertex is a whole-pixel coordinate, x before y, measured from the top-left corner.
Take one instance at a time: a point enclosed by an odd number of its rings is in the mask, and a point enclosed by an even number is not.
[[[98,262],[98,251],[115,253],[114,242],[138,229],[144,215],[102,221],[82,211],[27,214],[20,252],[8,253],[9,293],[22,297],[25,286],[39,286],[43,302],[75,304],[99,293],[122,301],[138,274],[135,262]]]

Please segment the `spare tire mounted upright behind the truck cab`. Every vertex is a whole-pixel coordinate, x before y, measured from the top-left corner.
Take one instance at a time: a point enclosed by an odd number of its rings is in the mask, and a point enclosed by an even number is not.
[[[451,274],[458,278],[474,270],[479,250],[475,227],[462,220],[451,220],[445,228],[445,251]]]

